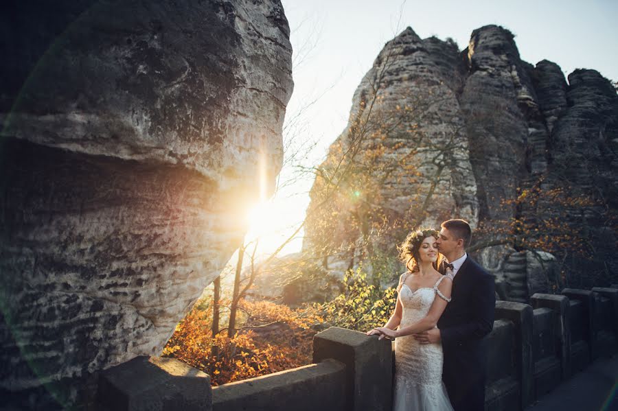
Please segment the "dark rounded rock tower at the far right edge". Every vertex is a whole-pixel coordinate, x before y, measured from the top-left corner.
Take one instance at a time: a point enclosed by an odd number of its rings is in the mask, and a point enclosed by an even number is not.
[[[583,228],[581,252],[571,259],[584,273],[584,287],[606,286],[618,273],[618,96],[595,70],[578,69],[568,78],[567,109],[551,133],[545,183],[547,189],[562,189],[589,203],[564,204],[560,223],[573,231]],[[545,207],[539,215],[549,218],[551,210]]]

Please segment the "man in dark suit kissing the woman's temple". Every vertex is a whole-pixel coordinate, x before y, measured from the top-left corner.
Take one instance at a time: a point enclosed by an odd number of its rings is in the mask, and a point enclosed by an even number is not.
[[[438,320],[438,328],[414,338],[421,344],[442,341],[442,379],[455,411],[483,411],[487,368],[483,337],[494,327],[494,277],[466,253],[472,238],[468,222],[448,220],[441,227],[436,243],[453,265],[453,300]]]

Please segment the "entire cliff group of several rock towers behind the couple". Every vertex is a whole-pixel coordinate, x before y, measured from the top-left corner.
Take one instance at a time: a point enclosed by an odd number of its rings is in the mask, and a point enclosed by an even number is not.
[[[380,132],[363,134],[359,124]],[[408,28],[385,45],[354,93],[350,126],[312,189],[304,248],[319,248],[329,233],[337,238],[330,254],[337,253],[325,266],[341,270],[378,255],[376,248],[394,257],[394,244],[412,226],[464,218],[476,233],[473,255],[494,272],[503,298],[526,301],[550,283],[608,283],[618,268],[617,125],[618,97],[608,80],[577,70],[567,82],[552,62],[532,66],[503,27],[474,30],[461,52]],[[400,176],[396,183],[380,180],[379,196],[365,201],[367,214],[384,217],[381,225],[345,224],[339,235],[336,224],[359,215],[354,202],[329,210],[340,214],[333,220],[314,204],[328,184],[347,189],[345,178],[325,183],[323,175],[333,176],[341,153],[355,144],[361,153],[384,145],[371,160],[396,164],[392,175]],[[545,253],[549,248],[554,255]],[[558,267],[556,257],[566,262]],[[594,270],[582,271],[590,264]]]

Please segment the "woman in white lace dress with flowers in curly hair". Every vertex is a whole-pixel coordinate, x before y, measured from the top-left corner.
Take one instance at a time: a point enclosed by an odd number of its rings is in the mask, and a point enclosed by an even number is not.
[[[419,230],[407,236],[399,249],[409,271],[399,279],[395,312],[384,327],[367,331],[396,339],[394,411],[453,410],[442,383],[442,344],[420,344],[413,337],[435,328],[450,301],[453,282],[435,269],[438,235]]]

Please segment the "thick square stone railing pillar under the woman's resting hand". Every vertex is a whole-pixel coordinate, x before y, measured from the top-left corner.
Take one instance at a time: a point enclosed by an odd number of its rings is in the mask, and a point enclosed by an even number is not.
[[[393,360],[391,341],[330,327],[313,338],[313,362],[333,358],[346,366],[345,410],[390,411]]]

